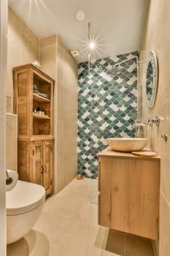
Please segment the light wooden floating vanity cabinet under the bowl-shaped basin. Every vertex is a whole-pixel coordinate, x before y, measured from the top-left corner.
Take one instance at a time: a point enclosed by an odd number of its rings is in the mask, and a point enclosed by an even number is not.
[[[114,156],[114,151],[112,154],[98,154],[98,223],[157,240],[160,160],[121,152]]]

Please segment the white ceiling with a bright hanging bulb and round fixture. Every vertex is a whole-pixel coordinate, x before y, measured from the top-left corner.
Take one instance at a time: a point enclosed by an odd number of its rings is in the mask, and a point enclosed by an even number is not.
[[[68,50],[79,50],[77,62],[88,60],[89,22],[98,45],[91,59],[139,50],[145,4],[146,0],[9,0],[37,37],[58,34]],[[82,22],[75,18],[79,10],[86,14]]]

